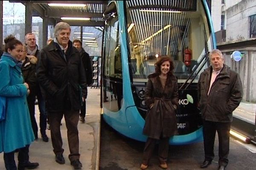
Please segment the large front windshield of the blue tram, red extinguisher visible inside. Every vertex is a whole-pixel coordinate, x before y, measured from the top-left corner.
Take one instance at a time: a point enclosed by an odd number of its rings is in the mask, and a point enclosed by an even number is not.
[[[178,82],[198,81],[197,67],[212,48],[201,0],[126,1],[128,47],[133,82],[147,82],[158,57],[174,62]],[[204,62],[206,63],[206,62]],[[194,71],[195,70],[195,71]]]

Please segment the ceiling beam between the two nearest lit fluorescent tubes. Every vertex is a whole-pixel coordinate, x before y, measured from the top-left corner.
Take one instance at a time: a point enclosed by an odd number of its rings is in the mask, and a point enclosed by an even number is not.
[[[102,17],[101,13],[90,13],[90,12],[73,12],[65,10],[46,10],[45,15],[47,17]]]

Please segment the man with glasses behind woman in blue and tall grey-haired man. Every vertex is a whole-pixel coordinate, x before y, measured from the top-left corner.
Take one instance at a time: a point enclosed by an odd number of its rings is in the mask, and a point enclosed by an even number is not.
[[[39,54],[39,49],[38,45],[36,45],[36,39],[35,35],[32,33],[28,33],[25,36],[25,44],[27,47],[27,55],[32,55],[38,58]],[[46,124],[47,124],[47,113],[45,110],[45,100],[43,98],[43,95],[41,93],[40,86],[37,82],[37,87],[36,87],[36,94],[37,94],[37,99],[38,99],[38,108],[40,111],[40,132],[41,136],[44,142],[48,142],[49,138],[46,135]],[[35,109],[35,108],[34,108]],[[38,139],[38,127],[36,125],[32,125],[34,134],[35,134],[35,139]]]

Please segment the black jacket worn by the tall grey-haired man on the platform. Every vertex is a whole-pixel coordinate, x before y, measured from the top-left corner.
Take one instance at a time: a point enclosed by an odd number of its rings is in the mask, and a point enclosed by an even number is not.
[[[52,41],[39,56],[37,77],[45,92],[47,111],[80,110],[87,85],[79,51],[69,41],[66,61],[60,46]]]

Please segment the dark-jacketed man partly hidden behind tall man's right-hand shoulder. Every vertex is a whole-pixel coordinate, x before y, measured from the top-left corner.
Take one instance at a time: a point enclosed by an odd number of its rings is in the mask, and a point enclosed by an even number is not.
[[[87,85],[92,84],[93,78],[92,78],[92,66],[91,66],[91,61],[89,54],[84,51],[84,48],[82,48],[82,42],[78,39],[73,40],[73,46],[76,47],[76,49],[79,51],[79,54],[82,58],[82,62],[84,65],[84,71],[86,75],[86,82]],[[86,113],[86,100],[83,101],[83,105],[81,108],[81,113],[80,113],[80,122],[84,123],[85,122],[85,113]]]

